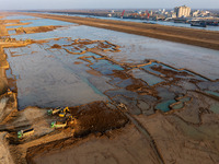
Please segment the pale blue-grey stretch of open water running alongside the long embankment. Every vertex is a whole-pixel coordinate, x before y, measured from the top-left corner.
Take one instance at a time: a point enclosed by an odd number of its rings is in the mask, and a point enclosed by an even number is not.
[[[18,39],[72,37],[73,39],[89,38],[110,40],[122,47],[120,52],[108,54],[108,56],[117,61],[139,63],[145,59],[154,59],[177,69],[192,70],[212,80],[219,79],[219,51],[208,48],[89,26],[70,26],[47,33],[18,35],[13,37]]]

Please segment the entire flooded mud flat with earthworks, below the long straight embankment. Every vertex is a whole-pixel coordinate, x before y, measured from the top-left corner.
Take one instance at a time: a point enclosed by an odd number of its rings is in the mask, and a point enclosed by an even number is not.
[[[0,21],[0,162],[219,163],[217,50],[26,15]],[[210,67],[188,69],[181,55]]]

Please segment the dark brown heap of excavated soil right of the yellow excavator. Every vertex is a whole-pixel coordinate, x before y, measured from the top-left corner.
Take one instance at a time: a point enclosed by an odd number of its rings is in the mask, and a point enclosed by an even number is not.
[[[111,109],[104,102],[94,102],[79,107],[71,107],[70,113],[77,118],[76,137],[87,136],[91,132],[105,132],[106,130],[124,127],[128,119],[117,109]]]

